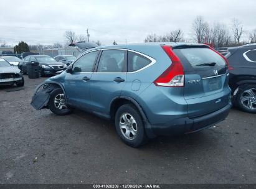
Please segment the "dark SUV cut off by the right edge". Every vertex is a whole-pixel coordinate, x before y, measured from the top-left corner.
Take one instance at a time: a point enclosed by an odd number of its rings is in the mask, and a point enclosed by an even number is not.
[[[232,103],[243,111],[256,113],[256,44],[228,49],[230,63],[229,86]]]

